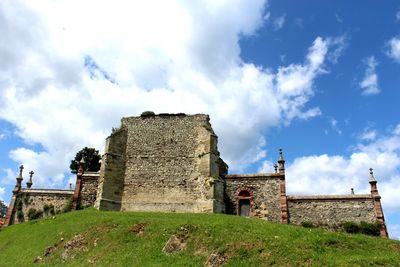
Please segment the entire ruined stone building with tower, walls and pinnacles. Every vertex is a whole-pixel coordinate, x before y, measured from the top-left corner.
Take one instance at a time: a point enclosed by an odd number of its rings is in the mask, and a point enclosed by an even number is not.
[[[217,143],[208,115],[123,118],[106,139],[100,171],[84,172],[81,161],[74,190],[32,189],[31,180],[22,188],[21,168],[6,225],[26,220],[31,208],[51,203],[60,210],[72,200],[74,209],[227,213],[328,229],[379,221],[388,236],[372,169],[370,194],[288,196],[282,150],[271,173],[228,174]]]

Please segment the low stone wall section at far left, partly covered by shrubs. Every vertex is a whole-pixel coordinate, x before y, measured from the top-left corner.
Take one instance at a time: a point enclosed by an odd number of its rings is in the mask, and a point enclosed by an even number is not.
[[[43,217],[59,213],[72,201],[73,193],[73,190],[61,189],[21,189],[16,197],[10,224],[28,221],[30,209],[43,212]],[[22,211],[23,217],[18,216],[19,210]]]

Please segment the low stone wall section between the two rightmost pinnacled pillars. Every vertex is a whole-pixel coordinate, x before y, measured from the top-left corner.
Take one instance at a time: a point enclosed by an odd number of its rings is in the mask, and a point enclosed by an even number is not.
[[[338,229],[344,222],[376,221],[371,195],[288,196],[289,222]]]

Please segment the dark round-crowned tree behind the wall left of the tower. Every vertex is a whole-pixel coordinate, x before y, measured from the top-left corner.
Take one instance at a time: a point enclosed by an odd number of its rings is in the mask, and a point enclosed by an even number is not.
[[[79,168],[79,161],[81,161],[82,156],[83,160],[85,161],[85,171],[97,172],[100,170],[101,156],[99,151],[94,148],[85,147],[76,153],[74,160],[71,160],[69,168],[71,169],[72,173],[77,172]]]

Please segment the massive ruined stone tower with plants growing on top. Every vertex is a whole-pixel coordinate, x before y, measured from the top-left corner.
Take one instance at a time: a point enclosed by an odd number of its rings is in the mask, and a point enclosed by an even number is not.
[[[226,173],[208,115],[145,112],[107,138],[95,207],[224,212]]]

